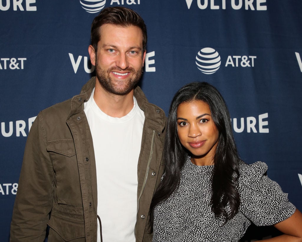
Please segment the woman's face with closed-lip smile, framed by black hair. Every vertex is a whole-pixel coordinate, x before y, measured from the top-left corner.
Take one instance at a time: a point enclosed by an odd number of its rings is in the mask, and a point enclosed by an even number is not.
[[[196,165],[213,165],[219,132],[213,122],[210,107],[200,100],[179,104],[177,132],[182,145],[191,152]]]

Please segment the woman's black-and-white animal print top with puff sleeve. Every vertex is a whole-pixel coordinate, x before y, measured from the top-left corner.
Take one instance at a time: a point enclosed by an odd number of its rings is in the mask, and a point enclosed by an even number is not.
[[[267,165],[256,162],[239,166],[239,212],[224,224],[211,211],[211,179],[214,165],[185,162],[177,190],[154,209],[153,242],[238,241],[252,223],[272,225],[296,210],[286,193],[266,175]],[[230,211],[230,207],[226,207]]]

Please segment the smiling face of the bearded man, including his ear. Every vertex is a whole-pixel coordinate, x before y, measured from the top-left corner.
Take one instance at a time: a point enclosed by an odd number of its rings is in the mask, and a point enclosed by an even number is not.
[[[96,78],[108,93],[125,95],[133,90],[143,72],[146,51],[142,31],[136,26],[111,24],[102,25],[100,31],[98,52],[89,47]]]

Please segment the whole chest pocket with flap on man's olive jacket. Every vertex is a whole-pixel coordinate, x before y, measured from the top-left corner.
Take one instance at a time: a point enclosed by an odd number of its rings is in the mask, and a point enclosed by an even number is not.
[[[47,143],[55,172],[55,196],[59,204],[82,206],[76,149],[72,139]]]

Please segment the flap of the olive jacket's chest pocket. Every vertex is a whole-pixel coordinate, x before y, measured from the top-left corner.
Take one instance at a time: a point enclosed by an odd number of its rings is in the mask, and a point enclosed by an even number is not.
[[[76,155],[73,139],[56,139],[47,142],[47,151],[56,152],[61,155],[71,157]]]

